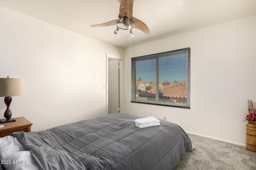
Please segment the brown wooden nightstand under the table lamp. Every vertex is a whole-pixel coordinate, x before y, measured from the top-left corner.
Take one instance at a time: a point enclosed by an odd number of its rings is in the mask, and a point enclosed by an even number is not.
[[[25,117],[16,117],[15,122],[4,123],[4,127],[0,128],[0,137],[11,135],[13,132],[31,132],[32,123]]]

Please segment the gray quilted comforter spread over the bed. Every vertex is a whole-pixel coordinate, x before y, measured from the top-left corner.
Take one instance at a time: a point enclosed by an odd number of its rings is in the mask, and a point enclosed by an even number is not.
[[[42,170],[166,170],[178,164],[190,138],[171,122],[140,129],[141,117],[113,113],[44,131],[12,133]]]

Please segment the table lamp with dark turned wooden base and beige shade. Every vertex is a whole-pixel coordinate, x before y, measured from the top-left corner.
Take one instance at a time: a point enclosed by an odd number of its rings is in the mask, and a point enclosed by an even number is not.
[[[0,97],[4,98],[6,104],[6,111],[4,117],[6,120],[0,120],[0,123],[9,123],[16,121],[11,119],[12,111],[10,110],[10,104],[12,102],[11,96],[22,96],[22,79],[21,78],[0,78]]]

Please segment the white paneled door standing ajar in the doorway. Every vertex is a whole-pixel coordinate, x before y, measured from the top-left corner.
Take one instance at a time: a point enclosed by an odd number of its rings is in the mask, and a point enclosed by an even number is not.
[[[108,114],[119,113],[118,60],[108,61]]]

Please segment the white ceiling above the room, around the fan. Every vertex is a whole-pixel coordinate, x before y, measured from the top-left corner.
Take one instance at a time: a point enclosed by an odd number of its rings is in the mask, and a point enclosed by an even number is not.
[[[151,34],[116,26],[90,27],[118,19],[122,0],[0,0],[0,6],[106,43],[129,46],[256,15],[256,0],[136,0],[133,16]],[[121,33],[121,35],[120,35]]]

